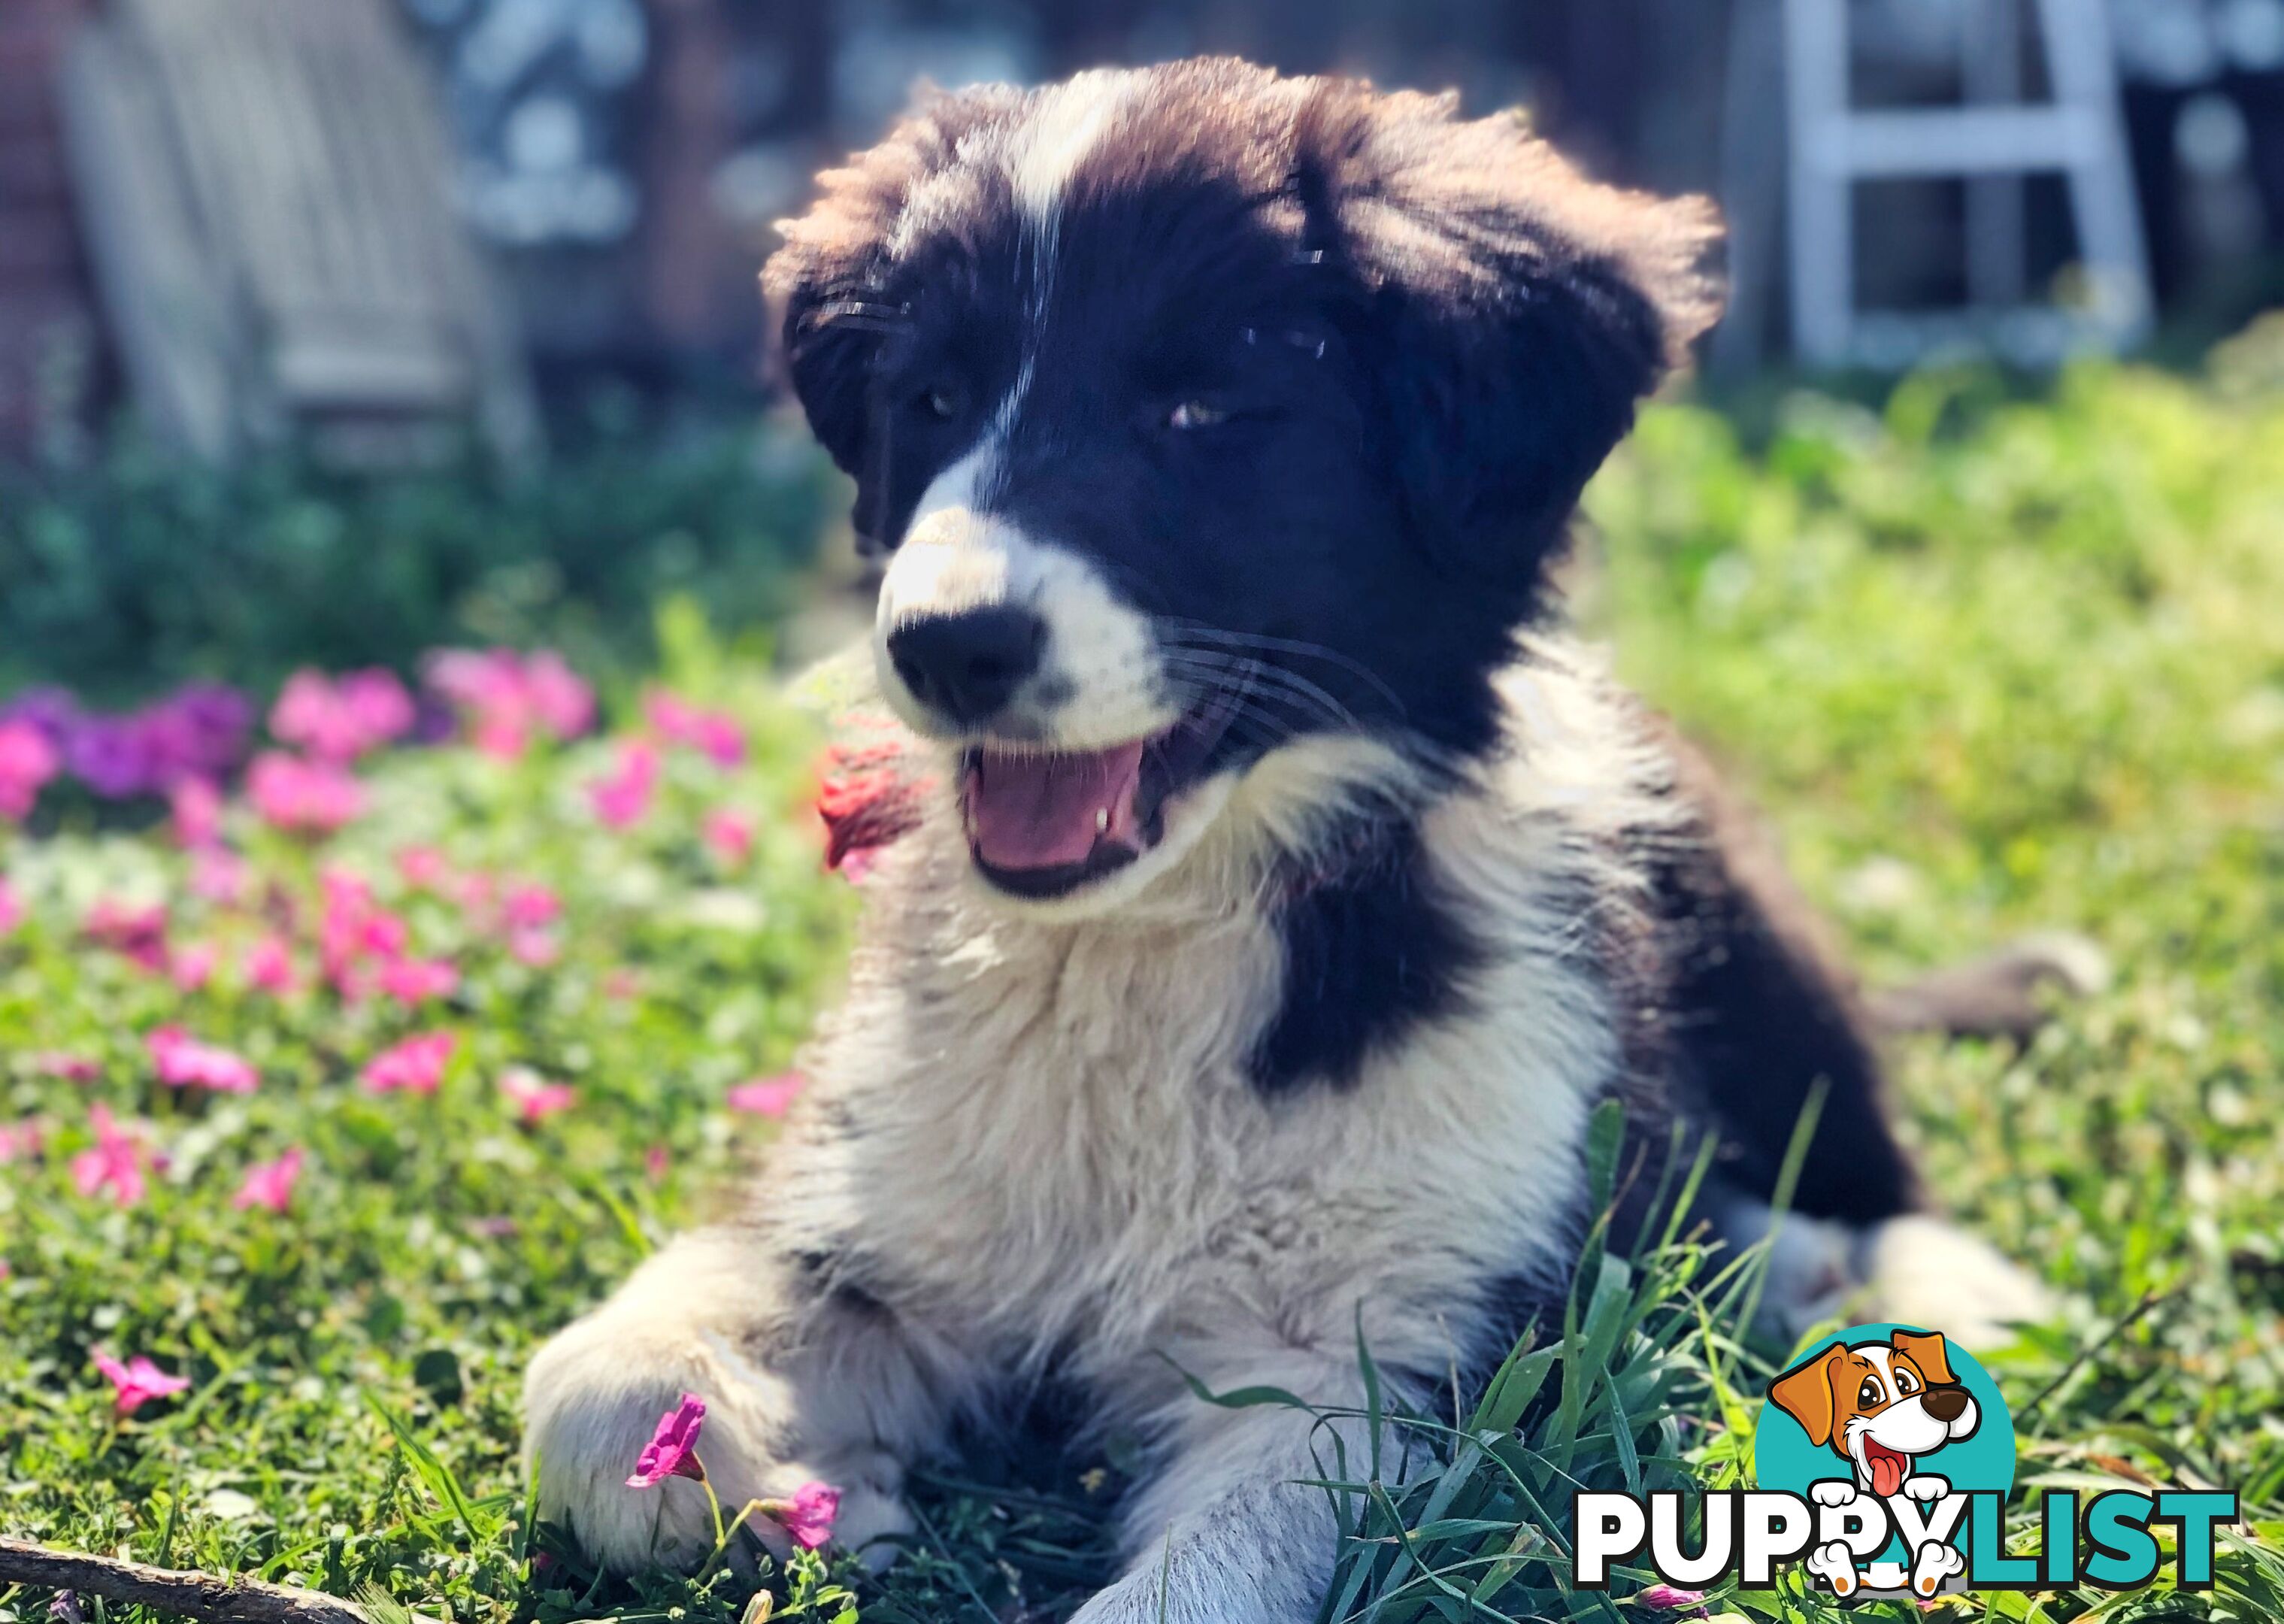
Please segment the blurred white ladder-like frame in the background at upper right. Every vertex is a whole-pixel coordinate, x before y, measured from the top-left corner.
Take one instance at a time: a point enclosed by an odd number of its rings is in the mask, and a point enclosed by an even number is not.
[[[2044,363],[2131,345],[2149,327],[2149,265],[2104,0],[2035,0],[2049,103],[2021,101],[2012,0],[1964,2],[1969,105],[1857,110],[1848,0],[1784,0],[1793,347],[1813,365],[1900,368],[1967,340]],[[2069,183],[2085,267],[2083,304],[2069,311],[2021,302],[2021,180],[2033,174]],[[1905,178],[1969,183],[1973,304],[1964,311],[1857,308],[1855,187]]]

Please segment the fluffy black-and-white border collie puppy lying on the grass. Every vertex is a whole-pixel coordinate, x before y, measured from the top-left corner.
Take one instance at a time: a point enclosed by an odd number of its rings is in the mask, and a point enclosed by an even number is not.
[[[1085,1624],[1306,1619],[1309,1421],[1181,1373],[1361,1402],[1359,1313],[1418,1398],[1487,1373],[1562,1302],[1608,1096],[1718,1135],[1743,1243],[1823,1078],[1786,1304],[2028,1302],[1919,1215],[1750,827],[1553,630],[1715,235],[1514,116],[1242,62],[939,96],[822,178],[765,281],[888,553],[911,827],[742,1215],[532,1364],[548,1517],[710,1549],[694,1482],[624,1487],[690,1389],[724,1503],[822,1478],[859,1546],[1055,1382],[1153,1450]]]

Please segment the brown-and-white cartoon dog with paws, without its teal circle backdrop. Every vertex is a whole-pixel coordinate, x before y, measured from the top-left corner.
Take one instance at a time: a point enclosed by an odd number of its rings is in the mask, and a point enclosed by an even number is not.
[[[1882,1501],[1939,1501],[1951,1480],[1923,1471],[1921,1462],[1948,1444],[1973,1437],[1983,1412],[1951,1373],[1951,1348],[1941,1332],[1891,1332],[1884,1341],[1834,1343],[1793,1366],[1768,1389],[1770,1402],[1802,1425],[1816,1448],[1848,1462],[1850,1478],[1809,1485],[1818,1505],[1848,1505],[1861,1494]],[[1903,1574],[1873,1562],[1859,1581],[1845,1544],[1809,1553],[1809,1571],[1832,1583],[1841,1597],[1857,1583],[1900,1590]],[[1912,1553],[1909,1587],[1932,1597],[1941,1581],[1964,1567],[1946,1544],[1928,1542]]]

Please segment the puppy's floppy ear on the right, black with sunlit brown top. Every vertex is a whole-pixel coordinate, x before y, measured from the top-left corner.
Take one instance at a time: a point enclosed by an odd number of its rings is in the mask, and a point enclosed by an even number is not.
[[[1635,404],[1720,315],[1720,219],[1583,178],[1517,114],[1327,85],[1295,187],[1352,267],[1414,532],[1533,571]]]

